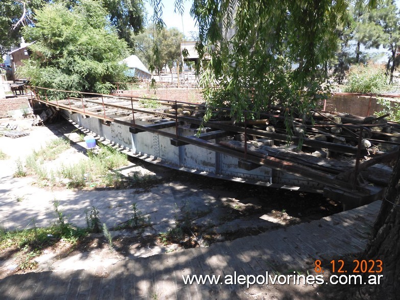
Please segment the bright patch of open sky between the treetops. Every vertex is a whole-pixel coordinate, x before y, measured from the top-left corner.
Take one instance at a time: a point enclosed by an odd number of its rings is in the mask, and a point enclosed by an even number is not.
[[[175,0],[161,0],[161,3],[163,4],[162,19],[168,28],[178,28],[186,38],[190,37],[191,31],[198,31],[198,27],[195,25],[196,22],[190,15],[190,9],[192,7],[193,0],[184,1],[183,16],[178,13],[174,13]],[[153,8],[150,6],[150,0],[145,1],[145,7],[150,19],[153,15]]]

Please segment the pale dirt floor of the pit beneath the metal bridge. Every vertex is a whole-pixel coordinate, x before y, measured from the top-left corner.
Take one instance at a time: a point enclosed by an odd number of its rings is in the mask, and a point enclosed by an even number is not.
[[[0,227],[23,230],[49,226],[56,220],[53,202],[57,199],[66,221],[83,228],[85,209],[96,206],[102,223],[110,230],[113,250],[102,233],[89,234],[74,245],[58,240],[32,258],[32,268],[21,270],[26,252],[16,246],[0,248],[0,279],[27,271],[91,270],[99,265],[106,269],[121,260],[207,247],[342,210],[340,203],[321,195],[216,180],[136,158],[130,158],[129,165],[119,172],[126,177],[140,174],[146,180],[132,181],[125,189],[88,186],[71,190],[62,184],[49,187],[39,184],[35,175],[15,177],[16,161],[23,163],[33,149],[40,151],[47,141],[59,136],[69,137],[72,147],[46,163],[47,170],[88,159],[87,149],[84,142],[75,142],[79,132],[65,120],[41,127],[32,127],[31,123],[29,118],[0,119],[0,124],[15,124],[17,130],[29,133],[16,139],[0,137],[0,150],[8,156],[0,160]],[[129,220],[133,202],[144,216],[150,217],[149,224],[136,230],[119,229]],[[178,227],[182,232],[176,238],[168,237],[167,233]]]

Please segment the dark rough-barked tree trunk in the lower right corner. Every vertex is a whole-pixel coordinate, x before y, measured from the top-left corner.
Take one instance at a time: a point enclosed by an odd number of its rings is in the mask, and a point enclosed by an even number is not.
[[[364,285],[357,298],[400,299],[400,151],[396,166],[374,224],[372,237],[360,260],[381,260],[383,275],[380,284]],[[376,274],[376,273],[375,273]],[[368,278],[368,273],[365,279]]]

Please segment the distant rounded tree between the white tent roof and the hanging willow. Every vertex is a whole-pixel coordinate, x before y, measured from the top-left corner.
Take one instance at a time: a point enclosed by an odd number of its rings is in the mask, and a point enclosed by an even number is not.
[[[137,57],[149,68],[154,65],[159,74],[162,68],[170,68],[180,58],[180,42],[183,34],[176,28],[163,28],[160,32],[153,25],[146,28],[145,32],[136,36],[135,53]],[[154,47],[157,56],[154,56]]]

